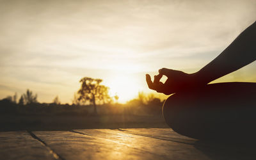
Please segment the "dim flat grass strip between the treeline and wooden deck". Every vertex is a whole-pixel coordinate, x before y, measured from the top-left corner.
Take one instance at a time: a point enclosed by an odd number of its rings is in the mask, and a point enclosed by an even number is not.
[[[161,115],[2,115],[0,131],[168,127]]]

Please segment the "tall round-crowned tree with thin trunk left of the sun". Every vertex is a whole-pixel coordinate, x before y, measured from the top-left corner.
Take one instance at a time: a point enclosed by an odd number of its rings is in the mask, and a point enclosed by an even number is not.
[[[102,79],[92,79],[90,77],[83,77],[80,80],[81,88],[78,90],[78,100],[82,102],[90,102],[94,106],[94,113],[97,114],[96,103],[106,103],[111,100],[109,96],[109,88],[100,85]]]

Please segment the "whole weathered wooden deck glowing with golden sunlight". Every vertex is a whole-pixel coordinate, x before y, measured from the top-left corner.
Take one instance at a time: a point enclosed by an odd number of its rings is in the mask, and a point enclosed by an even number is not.
[[[203,143],[172,129],[0,132],[0,159],[255,159],[255,147]]]

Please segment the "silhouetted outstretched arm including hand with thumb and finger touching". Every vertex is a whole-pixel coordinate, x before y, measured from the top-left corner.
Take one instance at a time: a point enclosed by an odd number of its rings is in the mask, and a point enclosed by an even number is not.
[[[166,95],[182,90],[189,90],[196,86],[205,85],[225,76],[256,60],[256,22],[246,28],[219,56],[194,74],[186,74],[179,70],[162,68],[154,76],[154,82],[147,74],[148,88]],[[161,83],[161,77],[168,77]]]

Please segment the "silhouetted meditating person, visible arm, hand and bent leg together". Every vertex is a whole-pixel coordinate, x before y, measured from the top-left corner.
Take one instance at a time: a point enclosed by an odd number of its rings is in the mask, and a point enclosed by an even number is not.
[[[193,74],[162,68],[147,74],[148,87],[171,95],[163,106],[166,123],[180,134],[198,139],[256,139],[256,83],[215,83],[256,60],[256,22],[221,54]],[[168,77],[161,83],[161,77]]]

